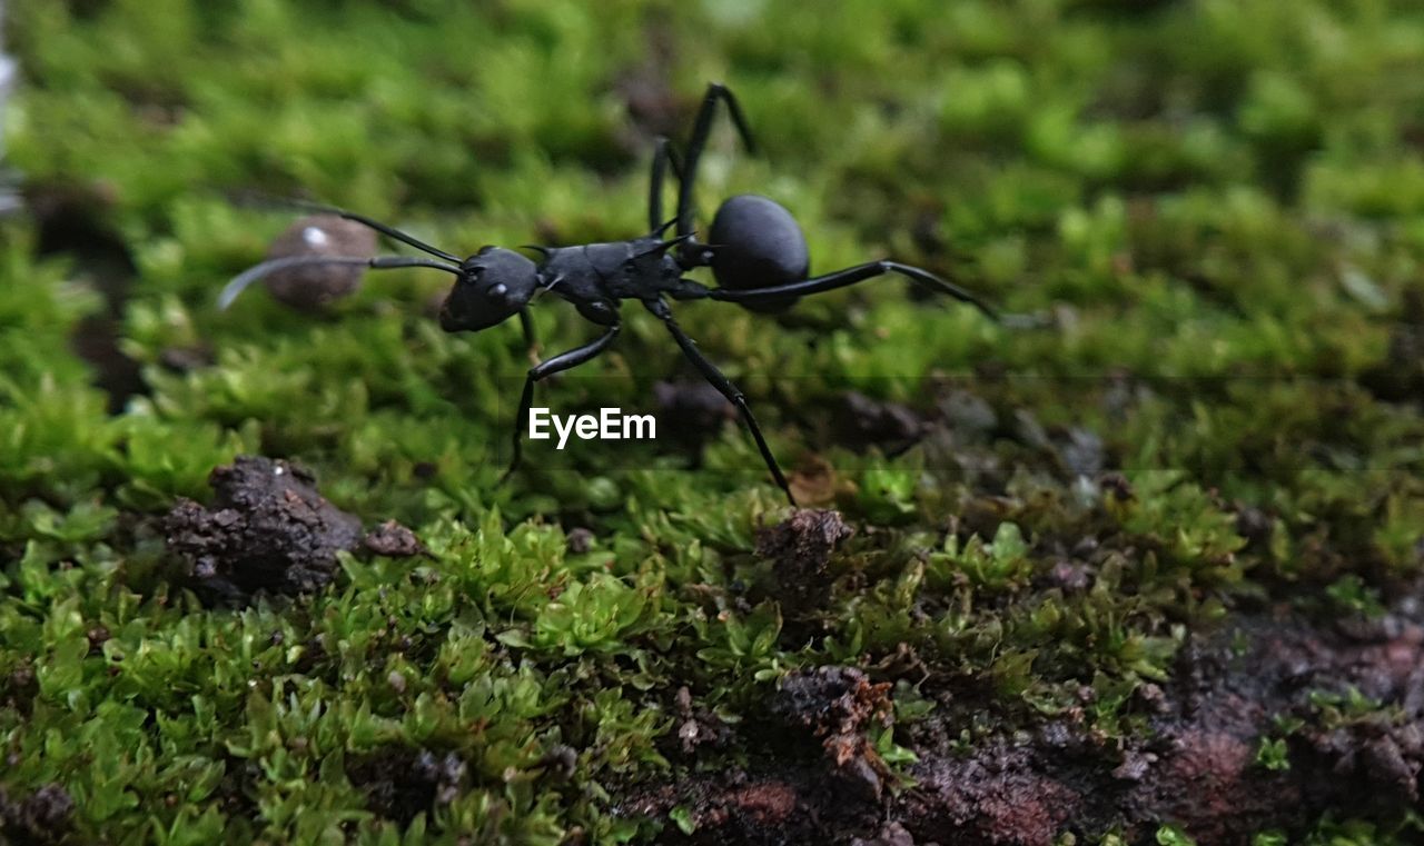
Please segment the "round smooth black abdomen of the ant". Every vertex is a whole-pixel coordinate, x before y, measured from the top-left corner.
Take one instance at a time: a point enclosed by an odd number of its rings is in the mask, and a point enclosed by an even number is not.
[[[753,290],[790,284],[807,277],[806,236],[780,203],[742,193],[722,203],[712,219],[712,273],[719,286]],[[748,304],[756,311],[783,311],[799,297]]]

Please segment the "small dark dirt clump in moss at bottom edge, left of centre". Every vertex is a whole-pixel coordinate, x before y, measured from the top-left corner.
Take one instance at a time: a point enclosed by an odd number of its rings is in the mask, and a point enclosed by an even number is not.
[[[454,752],[387,746],[347,764],[346,778],[366,793],[366,808],[410,825],[420,812],[449,805],[463,789],[467,766]]]

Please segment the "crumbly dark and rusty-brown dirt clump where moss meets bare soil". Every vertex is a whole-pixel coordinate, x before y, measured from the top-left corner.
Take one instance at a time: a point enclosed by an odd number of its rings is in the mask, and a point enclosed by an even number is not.
[[[842,773],[880,796],[889,768],[866,732],[874,722],[894,722],[889,682],[871,684],[854,667],[797,671],[782,681],[770,710],[787,725],[810,729]]]

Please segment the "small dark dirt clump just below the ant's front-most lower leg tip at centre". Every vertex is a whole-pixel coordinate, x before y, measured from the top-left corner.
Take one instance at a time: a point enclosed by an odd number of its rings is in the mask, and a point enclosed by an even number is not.
[[[778,600],[786,614],[805,614],[830,599],[826,572],[836,546],[854,535],[836,510],[797,509],[786,520],[756,533],[756,555],[773,559]]]

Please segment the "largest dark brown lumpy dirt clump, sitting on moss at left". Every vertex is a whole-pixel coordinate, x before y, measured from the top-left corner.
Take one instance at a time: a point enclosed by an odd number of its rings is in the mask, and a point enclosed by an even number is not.
[[[168,549],[189,564],[204,597],[245,604],[261,591],[310,593],[336,572],[336,553],[362,543],[360,520],[316,491],[306,469],[241,455],[208,478],[214,506],[179,499],[164,522]]]

